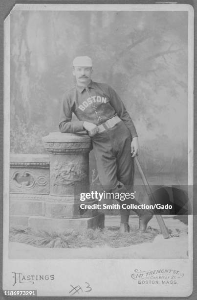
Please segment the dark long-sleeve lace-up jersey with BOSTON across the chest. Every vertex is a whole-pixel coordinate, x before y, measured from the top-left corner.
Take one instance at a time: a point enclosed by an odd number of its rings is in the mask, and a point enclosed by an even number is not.
[[[79,121],[72,121],[74,113]],[[76,85],[65,93],[60,110],[59,129],[61,132],[83,131],[85,121],[100,125],[118,115],[136,137],[137,132],[118,94],[107,84],[91,81],[86,89]]]

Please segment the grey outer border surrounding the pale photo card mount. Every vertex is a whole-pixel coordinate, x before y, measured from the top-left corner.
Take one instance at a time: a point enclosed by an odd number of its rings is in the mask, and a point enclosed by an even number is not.
[[[197,8],[197,1],[176,1],[177,3],[184,3],[184,4],[192,4],[194,9],[195,9],[195,19],[197,17],[197,13],[196,13],[196,8]],[[7,16],[7,14],[10,12],[10,10],[12,9],[14,4],[154,4],[157,3],[158,1],[6,1],[6,0],[1,0],[0,3],[0,41],[3,40],[3,30],[2,30],[2,25],[3,25],[3,20],[5,19],[5,17]],[[171,3],[171,2],[168,2]],[[196,31],[197,31],[197,25],[195,22],[195,49],[197,47],[197,36],[196,36]],[[194,95],[196,95],[196,91],[197,91],[197,80],[196,80],[196,53],[194,53],[195,55],[195,70],[194,70]],[[1,95],[1,100],[0,100],[0,145],[1,145],[1,153],[0,153],[0,196],[2,196],[2,191],[3,191],[3,43],[0,43],[0,64],[1,64],[1,69],[0,69],[0,95]],[[196,107],[196,103],[195,103],[195,97],[194,97],[194,129],[196,128],[197,125],[197,107]],[[194,183],[197,182],[197,132],[196,130],[194,130]],[[196,195],[197,192],[197,187],[194,186],[194,195]],[[1,197],[2,199],[2,197]],[[194,211],[196,211],[196,202],[194,201]],[[2,221],[2,201],[0,201],[0,228],[1,228],[1,232],[0,232],[0,246],[1,246],[1,250],[2,250],[2,225],[3,225],[3,221]],[[196,236],[197,233],[197,216],[194,215],[194,237]],[[197,295],[197,255],[196,255],[196,251],[197,250],[197,239],[193,240],[194,244],[193,244],[193,255],[194,255],[194,283],[196,283],[196,285],[194,285],[194,290],[193,290],[193,294],[189,297],[186,297],[186,299],[196,299],[196,298],[191,298],[191,297],[195,297]],[[2,251],[1,251],[2,252]],[[2,256],[0,257],[0,266],[1,266],[1,270],[2,270]],[[2,288],[2,273],[0,274],[0,282],[1,282],[1,288]],[[1,296],[1,294],[0,294]],[[3,294],[2,294],[3,296]],[[3,296],[4,298],[4,296]],[[10,299],[14,299],[14,297],[10,297]],[[37,297],[38,299],[48,299],[48,297]],[[74,299],[87,299],[89,297],[73,297]],[[96,299],[97,297],[91,297],[91,299]],[[101,297],[100,297],[101,298]],[[131,299],[135,299],[136,297],[129,297]],[[137,299],[152,299],[153,297],[137,297]],[[171,297],[154,297],[154,299],[168,299]],[[7,299],[5,297],[5,299]],[[18,297],[19,299],[19,297]],[[53,299],[70,299],[70,297],[53,297]],[[102,299],[128,299],[128,297],[106,297]],[[173,299],[179,299],[179,297],[174,297]]]

